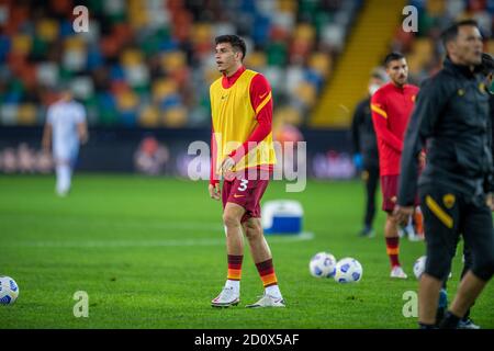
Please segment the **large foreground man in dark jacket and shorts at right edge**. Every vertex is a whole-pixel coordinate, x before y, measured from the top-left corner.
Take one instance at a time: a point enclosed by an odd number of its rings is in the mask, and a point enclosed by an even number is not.
[[[462,316],[494,274],[494,231],[491,191],[492,152],[489,145],[490,95],[482,63],[482,36],[474,21],[445,31],[445,68],[427,80],[417,98],[402,155],[395,214],[404,222],[413,212],[417,189],[417,157],[427,148],[419,181],[427,262],[418,292],[418,322],[434,328],[439,291],[447,279],[458,237],[472,253],[472,267],[440,322],[457,328]]]

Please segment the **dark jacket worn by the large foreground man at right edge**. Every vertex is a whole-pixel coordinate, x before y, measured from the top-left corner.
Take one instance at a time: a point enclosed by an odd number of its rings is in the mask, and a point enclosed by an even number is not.
[[[490,98],[481,75],[449,58],[424,82],[405,136],[398,205],[414,204],[423,144],[427,162],[418,185],[444,185],[467,196],[494,190]]]

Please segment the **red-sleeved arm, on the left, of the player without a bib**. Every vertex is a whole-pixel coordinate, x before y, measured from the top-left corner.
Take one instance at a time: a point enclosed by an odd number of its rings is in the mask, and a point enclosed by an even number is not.
[[[383,91],[378,90],[371,99],[372,123],[374,124],[378,139],[383,140],[390,147],[402,154],[403,143],[388,128],[388,113]]]

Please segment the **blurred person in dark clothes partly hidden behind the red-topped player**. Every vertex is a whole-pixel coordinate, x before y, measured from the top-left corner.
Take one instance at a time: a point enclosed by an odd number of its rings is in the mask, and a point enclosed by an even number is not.
[[[379,154],[372,114],[370,110],[370,97],[386,82],[385,71],[374,69],[369,80],[369,97],[359,102],[351,121],[351,140],[353,144],[353,160],[358,169],[362,168],[362,180],[366,183],[366,215],[362,237],[373,237],[372,223],[375,215],[375,191],[379,184]]]

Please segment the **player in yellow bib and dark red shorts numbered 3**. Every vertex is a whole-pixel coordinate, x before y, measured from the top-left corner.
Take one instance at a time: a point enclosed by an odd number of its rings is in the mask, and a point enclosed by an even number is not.
[[[260,199],[276,163],[272,145],[272,97],[266,78],[243,66],[245,42],[236,35],[216,37],[215,59],[223,77],[211,84],[210,196],[223,201],[228,273],[212,306],[237,305],[244,237],[265,286],[263,296],[247,307],[284,307],[271,251],[262,234]],[[220,190],[220,174],[224,177]]]

